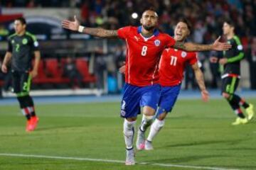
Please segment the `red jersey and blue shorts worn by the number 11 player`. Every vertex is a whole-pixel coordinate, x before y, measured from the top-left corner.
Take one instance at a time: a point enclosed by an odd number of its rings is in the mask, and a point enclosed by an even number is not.
[[[193,65],[197,61],[196,52],[185,52],[173,48],[164,50],[159,63],[161,94],[157,115],[164,112],[169,113],[174,108],[181,90],[186,64]]]

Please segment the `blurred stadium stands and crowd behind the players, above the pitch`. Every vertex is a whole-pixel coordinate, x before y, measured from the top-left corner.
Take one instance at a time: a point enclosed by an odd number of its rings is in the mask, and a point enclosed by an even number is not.
[[[28,31],[40,41],[42,62],[39,75],[33,80],[32,89],[50,90],[48,94],[118,94],[122,91],[123,77],[118,73],[125,57],[125,45],[121,40],[103,40],[90,35],[64,30],[60,26],[64,18],[78,16],[83,26],[117,29],[122,26],[139,26],[139,18],[145,8],[154,6],[159,13],[159,28],[174,35],[178,18],[186,17],[193,24],[188,41],[211,43],[222,35],[226,18],[237,24],[236,33],[245,50],[242,60],[243,89],[256,89],[256,23],[255,5],[252,0],[229,1],[36,1],[6,0],[0,2],[0,62],[6,52],[6,38],[14,33],[13,21],[24,16]],[[139,8],[138,8],[139,6]],[[132,16],[137,13],[138,16]],[[210,64],[210,56],[216,52],[199,52],[206,85],[209,89],[220,86],[218,64]],[[75,60],[82,74],[82,84],[69,84],[63,75],[67,57]],[[190,67],[187,68],[183,89],[196,89]],[[8,75],[0,73],[0,85],[4,86]],[[54,89],[58,89],[55,91]],[[62,89],[60,91],[60,89]],[[11,96],[9,86],[3,87],[4,96]],[[76,91],[76,92],[74,92]],[[46,94],[46,91],[44,92]],[[35,94],[41,95],[41,92]]]

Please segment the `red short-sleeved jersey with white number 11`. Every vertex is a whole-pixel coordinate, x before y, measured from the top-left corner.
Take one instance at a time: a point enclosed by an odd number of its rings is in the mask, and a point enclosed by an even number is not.
[[[186,64],[198,62],[196,52],[185,52],[167,48],[161,55],[159,63],[159,82],[161,86],[176,86],[183,80]]]

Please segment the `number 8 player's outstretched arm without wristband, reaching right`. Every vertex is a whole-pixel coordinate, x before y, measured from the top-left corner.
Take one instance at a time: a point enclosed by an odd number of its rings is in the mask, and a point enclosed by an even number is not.
[[[232,46],[225,42],[219,42],[220,37],[215,40],[213,44],[210,45],[199,45],[192,42],[178,42],[174,44],[174,48],[186,50],[186,51],[226,51],[229,50]]]

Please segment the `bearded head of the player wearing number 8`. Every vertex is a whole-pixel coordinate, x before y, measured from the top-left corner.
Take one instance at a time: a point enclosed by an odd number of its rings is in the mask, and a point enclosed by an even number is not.
[[[157,24],[157,14],[154,11],[144,11],[141,18],[142,26],[145,30],[153,30]]]

